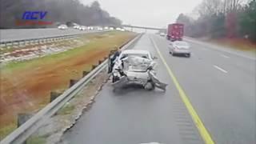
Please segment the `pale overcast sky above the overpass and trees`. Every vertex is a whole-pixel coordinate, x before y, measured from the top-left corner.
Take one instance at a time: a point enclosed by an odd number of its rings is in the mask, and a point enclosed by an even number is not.
[[[80,0],[90,4],[94,0]],[[98,0],[102,9],[123,24],[163,27],[175,22],[178,14],[190,14],[202,0]]]

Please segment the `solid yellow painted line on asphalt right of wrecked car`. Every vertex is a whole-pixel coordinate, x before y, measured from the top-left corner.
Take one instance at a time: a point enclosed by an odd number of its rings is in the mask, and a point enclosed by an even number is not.
[[[206,127],[204,126],[201,118],[199,118],[199,115],[197,114],[196,110],[194,110],[194,107],[190,103],[190,100],[186,96],[186,93],[184,92],[184,90],[182,90],[182,86],[179,85],[177,78],[174,76],[174,73],[172,72],[172,70],[170,70],[170,67],[168,66],[165,58],[163,58],[158,46],[154,42],[153,38],[150,38],[150,40],[153,43],[155,50],[157,50],[158,55],[160,56],[163,64],[166,66],[166,70],[167,70],[168,74],[170,74],[170,78],[172,78],[174,85],[176,86],[178,93],[179,93],[180,97],[182,98],[182,102],[184,102],[186,109],[189,111],[190,116],[193,119],[195,126],[198,128],[198,131],[199,131],[202,139],[204,140],[204,142],[206,144],[214,144],[214,141],[211,138],[210,133],[208,132],[208,130],[206,130]]]

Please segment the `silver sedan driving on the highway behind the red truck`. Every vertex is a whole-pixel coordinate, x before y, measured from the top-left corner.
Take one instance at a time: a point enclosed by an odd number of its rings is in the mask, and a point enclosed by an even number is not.
[[[169,53],[174,55],[182,54],[190,58],[190,45],[184,41],[171,42],[169,46]]]

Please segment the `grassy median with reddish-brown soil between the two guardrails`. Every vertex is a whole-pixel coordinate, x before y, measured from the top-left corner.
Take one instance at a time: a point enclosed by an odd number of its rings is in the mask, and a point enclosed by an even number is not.
[[[106,32],[86,34],[88,42],[60,54],[48,55],[26,62],[2,66],[0,98],[0,139],[16,128],[16,115],[36,111],[50,102],[50,91],[65,90],[70,78],[82,78],[83,70],[106,57],[114,47],[121,46],[135,34]]]

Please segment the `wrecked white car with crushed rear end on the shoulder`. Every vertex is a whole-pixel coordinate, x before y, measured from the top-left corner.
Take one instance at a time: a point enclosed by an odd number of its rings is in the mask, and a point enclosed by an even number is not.
[[[139,84],[146,90],[154,90],[155,87],[166,90],[167,84],[156,77],[157,63],[154,59],[147,50],[123,50],[121,54],[115,52],[109,61],[114,89],[127,84]]]

